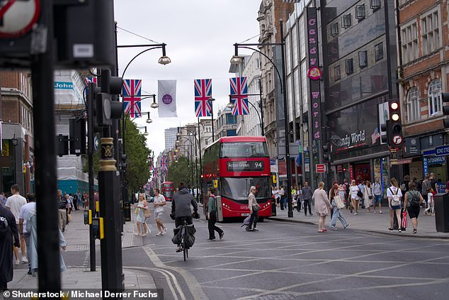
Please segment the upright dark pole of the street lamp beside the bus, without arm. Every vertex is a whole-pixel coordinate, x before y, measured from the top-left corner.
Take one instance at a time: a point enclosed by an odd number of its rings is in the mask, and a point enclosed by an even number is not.
[[[288,101],[287,101],[287,80],[285,80],[285,40],[283,34],[283,22],[280,21],[280,52],[282,52],[282,74],[283,74],[283,99],[284,99],[284,126],[285,126],[285,163],[287,167],[287,202],[288,217],[293,217],[292,210],[292,165],[290,161],[290,139],[288,130]]]

